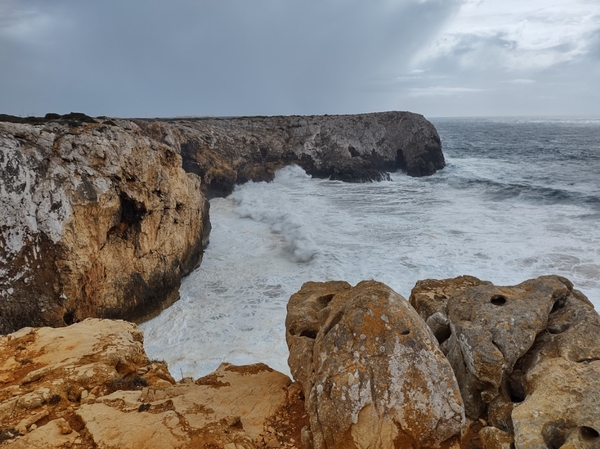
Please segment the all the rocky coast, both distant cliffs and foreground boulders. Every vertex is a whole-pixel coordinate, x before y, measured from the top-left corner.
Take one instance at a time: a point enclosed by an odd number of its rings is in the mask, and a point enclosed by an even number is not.
[[[351,182],[444,166],[422,116],[0,116],[0,448],[600,447],[600,316],[572,283],[308,282],[294,381],[175,382],[135,324],[208,244],[207,197],[298,164]],[[53,327],[46,327],[53,326]]]

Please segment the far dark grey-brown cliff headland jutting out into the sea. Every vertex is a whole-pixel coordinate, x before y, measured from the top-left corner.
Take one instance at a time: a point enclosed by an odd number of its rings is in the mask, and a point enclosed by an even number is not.
[[[426,176],[444,167],[435,127],[410,112],[333,116],[240,117],[137,121],[181,134],[184,168],[202,177],[209,196],[235,184],[269,181],[297,164],[315,177],[372,181],[387,171]]]

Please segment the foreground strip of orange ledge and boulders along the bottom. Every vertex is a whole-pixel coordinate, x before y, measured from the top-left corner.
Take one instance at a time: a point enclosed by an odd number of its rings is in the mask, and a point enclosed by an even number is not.
[[[309,282],[294,376],[223,364],[175,382],[125,321],[0,337],[4,448],[594,448],[600,316],[565,278],[497,287]]]

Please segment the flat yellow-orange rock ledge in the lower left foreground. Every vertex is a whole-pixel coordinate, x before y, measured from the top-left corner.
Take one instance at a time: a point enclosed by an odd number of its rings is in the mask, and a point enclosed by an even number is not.
[[[0,448],[300,447],[300,393],[262,364],[175,383],[124,321],[0,337]]]

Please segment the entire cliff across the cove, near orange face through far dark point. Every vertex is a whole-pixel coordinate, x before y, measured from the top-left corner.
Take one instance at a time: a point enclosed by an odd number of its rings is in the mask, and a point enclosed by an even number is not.
[[[0,115],[0,334],[140,320],[178,297],[208,243],[207,197],[299,164],[346,181],[444,166],[409,112],[172,120]]]

